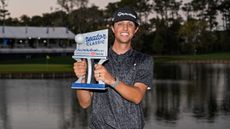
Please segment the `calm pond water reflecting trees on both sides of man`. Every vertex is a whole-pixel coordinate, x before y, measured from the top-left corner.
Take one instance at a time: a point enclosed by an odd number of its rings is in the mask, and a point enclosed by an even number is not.
[[[74,79],[1,79],[0,129],[85,129],[89,110],[69,88]],[[230,66],[157,64],[142,104],[145,129],[228,129]]]

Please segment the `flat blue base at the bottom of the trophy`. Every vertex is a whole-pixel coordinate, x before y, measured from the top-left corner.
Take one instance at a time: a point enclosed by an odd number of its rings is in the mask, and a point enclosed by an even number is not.
[[[105,90],[105,84],[72,83],[72,89]]]

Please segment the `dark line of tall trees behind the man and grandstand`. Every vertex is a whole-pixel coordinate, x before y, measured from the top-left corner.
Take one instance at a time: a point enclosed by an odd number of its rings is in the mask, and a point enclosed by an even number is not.
[[[108,28],[114,11],[130,6],[141,23],[133,41],[136,49],[158,55],[230,50],[229,0],[121,0],[105,9],[88,6],[88,0],[57,0],[59,10],[19,18],[10,17],[6,0],[0,2],[1,25],[65,26],[75,34]]]

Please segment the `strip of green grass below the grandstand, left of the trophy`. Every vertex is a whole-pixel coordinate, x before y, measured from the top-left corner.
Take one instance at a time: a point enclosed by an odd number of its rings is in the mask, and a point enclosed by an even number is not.
[[[0,62],[0,73],[72,72],[71,56],[46,56],[30,59],[7,59]]]

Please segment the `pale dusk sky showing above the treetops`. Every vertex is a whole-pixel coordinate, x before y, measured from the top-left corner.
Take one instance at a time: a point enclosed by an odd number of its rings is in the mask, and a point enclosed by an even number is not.
[[[42,15],[60,9],[57,5],[57,0],[6,0],[8,2],[7,10],[10,12],[10,17],[19,18],[23,14],[27,16]],[[104,8],[109,2],[119,0],[89,0],[89,6],[92,4]]]

